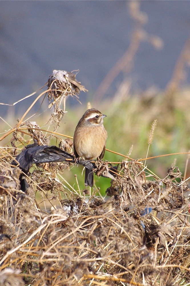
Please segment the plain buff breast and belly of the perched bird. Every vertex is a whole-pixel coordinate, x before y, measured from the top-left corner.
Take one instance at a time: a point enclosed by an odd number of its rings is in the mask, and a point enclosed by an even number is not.
[[[74,146],[81,158],[92,160],[100,156],[106,139],[107,132],[103,126],[85,127],[85,132],[83,128],[78,128],[74,136]]]

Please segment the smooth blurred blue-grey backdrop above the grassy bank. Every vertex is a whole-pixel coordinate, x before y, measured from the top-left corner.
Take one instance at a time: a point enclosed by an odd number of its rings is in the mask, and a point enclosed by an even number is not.
[[[88,101],[129,47],[129,1],[0,1],[0,102],[13,103],[43,86],[53,69],[79,69]],[[133,91],[163,90],[190,31],[190,1],[140,1],[143,29],[163,40],[142,42],[130,72]],[[121,78],[107,93],[112,96]],[[185,84],[190,81],[189,76]],[[22,103],[29,106],[34,98]],[[75,104],[72,101],[70,104]],[[20,110],[20,108],[18,107]],[[10,110],[0,106],[3,114]]]

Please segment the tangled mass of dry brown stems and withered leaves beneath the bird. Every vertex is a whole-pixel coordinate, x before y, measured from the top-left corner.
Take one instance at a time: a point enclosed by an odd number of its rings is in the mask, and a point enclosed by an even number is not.
[[[84,90],[75,77],[59,76],[59,84],[48,81],[54,136],[61,100]],[[0,286],[189,285],[189,188],[179,169],[160,179],[140,160],[97,162],[97,175],[117,167],[105,198],[95,188],[66,187],[61,174],[69,162],[43,162],[23,174],[15,161],[20,143],[50,140],[24,118],[1,138],[12,134],[0,158]],[[60,140],[60,148],[72,153],[72,141]]]

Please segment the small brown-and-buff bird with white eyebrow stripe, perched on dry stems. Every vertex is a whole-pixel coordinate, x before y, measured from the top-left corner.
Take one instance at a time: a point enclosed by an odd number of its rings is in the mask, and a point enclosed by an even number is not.
[[[95,108],[86,110],[80,118],[73,137],[73,149],[76,158],[84,160],[101,160],[104,157],[108,134],[103,125],[102,114]],[[94,178],[92,170],[85,168],[85,186],[93,186]]]

